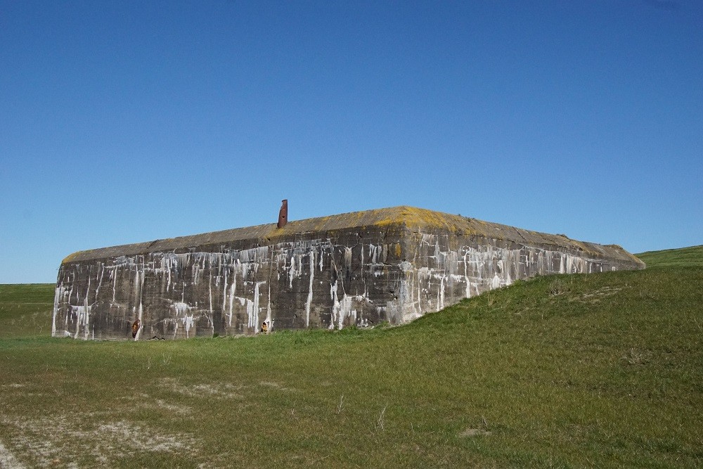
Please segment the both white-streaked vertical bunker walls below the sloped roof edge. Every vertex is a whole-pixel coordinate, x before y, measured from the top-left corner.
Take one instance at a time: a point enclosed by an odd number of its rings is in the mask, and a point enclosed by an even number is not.
[[[65,322],[75,328],[75,338],[94,338],[94,333],[89,336],[91,311],[101,300],[115,316],[122,313],[124,323],[130,323],[133,318],[149,322],[145,319],[145,304],[153,309],[158,306],[155,303],[165,300],[170,316],[151,321],[161,326],[161,330],[152,327],[145,332],[150,337],[155,333],[168,338],[189,338],[202,334],[205,329],[209,329],[205,331],[207,335],[222,329],[230,334],[254,333],[260,326],[260,315],[265,314],[269,324],[280,319],[280,297],[289,300],[289,304],[292,300],[292,307],[296,307],[296,297],[304,298],[297,306],[304,311],[298,327],[342,328],[346,323],[368,323],[368,311],[373,312],[372,321],[404,323],[463,297],[510,285],[514,278],[602,270],[602,266],[588,259],[563,252],[492,245],[460,246],[450,250],[444,245],[441,236],[423,233],[413,262],[396,258],[394,263],[388,262],[391,250],[388,244],[361,243],[355,245],[355,251],[349,246],[337,247],[331,240],[283,243],[271,249],[239,252],[225,250],[188,255],[153,252],[146,256],[120,257],[111,265],[98,262],[94,267],[101,272],[107,267],[110,272],[113,286],[109,298],[101,298],[101,282],[94,293],[91,292],[91,277],[86,279],[86,288],[75,282],[71,288],[77,288],[67,290],[65,284],[79,277],[84,266],[79,266],[77,272],[64,274],[56,291],[53,323],[56,325],[57,314],[63,308]],[[319,266],[322,266],[321,281],[317,283],[316,267]],[[282,271],[285,282],[281,282]],[[204,282],[206,277],[207,282]],[[315,295],[319,285],[325,284],[330,289],[328,301]],[[129,288],[124,288],[127,285]],[[262,285],[266,285],[266,290],[262,290]],[[354,291],[347,293],[347,288]],[[369,288],[375,291],[376,297],[373,293],[369,295]],[[78,290],[84,291],[84,296],[75,295],[82,304],[71,304],[74,301],[71,293]],[[108,290],[103,289],[103,297],[105,292]],[[131,294],[125,295],[125,292]],[[179,297],[177,301],[169,299],[174,294]],[[91,299],[93,303],[88,304]],[[382,302],[379,304],[378,300]],[[328,319],[325,319],[325,310]],[[367,312],[366,317],[363,311]],[[316,313],[315,318],[313,313]],[[295,327],[295,321],[290,319],[288,327],[291,322]],[[135,339],[139,338],[141,330]],[[56,329],[54,335],[58,335]]]

